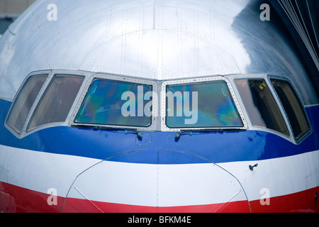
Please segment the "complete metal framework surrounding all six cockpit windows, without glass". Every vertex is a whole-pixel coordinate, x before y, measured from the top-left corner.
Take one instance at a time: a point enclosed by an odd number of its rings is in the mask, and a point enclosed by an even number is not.
[[[33,105],[30,108],[30,111],[28,113],[28,116],[26,117],[26,121],[23,124],[23,128],[21,130],[21,133],[16,132],[10,125],[7,123],[9,116],[11,114],[13,104],[18,99],[19,94],[21,93],[21,90],[25,87],[26,82],[28,79],[32,76],[38,75],[38,74],[47,74],[47,79],[45,80],[43,87],[41,87],[38,95],[35,98],[35,101]],[[74,99],[74,103],[72,104],[72,107],[69,111],[69,114],[67,115],[67,118],[64,122],[59,123],[47,123],[43,126],[38,126],[37,128],[34,128],[31,131],[26,131],[26,128],[28,127],[28,124],[30,123],[30,119],[32,118],[33,114],[35,114],[35,109],[37,108],[38,104],[40,104],[40,100],[43,98],[45,92],[47,91],[48,87],[50,86],[52,79],[55,77],[56,74],[65,74],[65,75],[74,75],[74,76],[82,76],[84,77],[84,81],[82,83],[82,86],[79,89],[79,92]],[[91,83],[94,79],[108,79],[113,81],[120,81],[120,82],[132,82],[135,84],[145,84],[145,85],[151,85],[152,86],[152,123],[148,127],[135,127],[135,126],[113,126],[113,125],[99,125],[99,124],[88,124],[88,123],[74,123],[74,119],[76,118],[79,109],[82,106],[82,102],[84,101],[84,98],[86,96],[86,93],[89,90],[89,87],[91,86]],[[272,96],[274,100],[276,101],[276,104],[278,105],[279,111],[281,115],[284,118],[284,121],[286,123],[286,127],[288,128],[289,135],[284,135],[283,133],[280,133],[278,131],[274,131],[270,128],[264,128],[259,126],[252,126],[252,122],[250,121],[250,117],[247,113],[247,110],[245,109],[245,105],[242,102],[242,99],[240,98],[240,94],[237,90],[235,80],[237,79],[264,79],[264,82],[267,84],[270,92],[272,93]],[[293,91],[295,92],[297,99],[300,101],[301,106],[303,108],[303,111],[306,115],[306,119],[308,121],[308,124],[310,126],[310,130],[307,133],[304,133],[301,138],[296,140],[296,137],[293,134],[291,123],[289,121],[288,116],[286,115],[286,111],[284,110],[284,106],[281,103],[281,100],[279,99],[278,94],[276,93],[276,90],[274,89],[274,86],[272,85],[271,79],[281,79],[286,82],[289,82],[291,84],[291,87],[293,88]],[[206,128],[169,128],[166,125],[166,87],[167,85],[178,85],[178,84],[191,84],[191,83],[204,83],[204,82],[216,82],[216,81],[224,81],[228,85],[228,89],[230,92],[230,95],[233,98],[233,101],[235,103],[236,109],[238,111],[238,114],[242,120],[242,123],[244,126],[242,127],[206,127]],[[232,129],[232,130],[251,130],[251,131],[264,131],[267,133],[272,133],[275,135],[279,135],[281,138],[284,138],[286,140],[291,141],[291,143],[299,144],[303,140],[305,140],[308,135],[310,135],[313,132],[312,125],[309,120],[308,113],[306,111],[305,105],[301,101],[301,98],[296,90],[296,87],[293,86],[293,83],[291,80],[284,76],[278,76],[274,74],[231,74],[231,75],[225,75],[225,76],[206,76],[206,77],[193,77],[193,78],[185,78],[185,79],[171,79],[171,80],[164,80],[164,81],[156,81],[152,79],[141,79],[138,77],[128,77],[125,75],[119,75],[119,74],[106,74],[106,73],[96,73],[96,72],[86,72],[86,71],[78,71],[78,70],[40,70],[31,72],[28,74],[28,76],[23,80],[23,83],[21,84],[21,87],[18,89],[18,92],[16,93],[16,96],[14,97],[11,107],[8,111],[8,114],[6,116],[6,120],[4,122],[4,126],[13,134],[16,136],[16,138],[24,138],[27,135],[34,133],[36,131],[40,131],[44,128],[50,128],[55,126],[90,126],[90,127],[101,127],[101,128],[113,128],[113,129],[123,129],[127,128],[128,130],[135,130],[135,131],[200,131],[205,129],[212,129],[212,130],[224,130],[224,129]]]

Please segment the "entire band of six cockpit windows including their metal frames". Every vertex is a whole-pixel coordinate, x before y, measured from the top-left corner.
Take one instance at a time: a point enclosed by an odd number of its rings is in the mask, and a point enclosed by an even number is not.
[[[295,124],[287,127],[291,122]],[[311,132],[297,93],[287,79],[278,76],[234,74],[157,81],[62,70],[29,74],[6,116],[6,128],[23,138],[43,128],[66,125],[137,133],[178,131],[177,135],[256,127],[279,132],[296,143]]]

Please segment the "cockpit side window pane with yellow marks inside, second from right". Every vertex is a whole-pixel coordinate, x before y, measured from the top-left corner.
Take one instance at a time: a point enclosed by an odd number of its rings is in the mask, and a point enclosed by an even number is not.
[[[253,126],[289,136],[284,117],[264,79],[236,79],[235,84]]]

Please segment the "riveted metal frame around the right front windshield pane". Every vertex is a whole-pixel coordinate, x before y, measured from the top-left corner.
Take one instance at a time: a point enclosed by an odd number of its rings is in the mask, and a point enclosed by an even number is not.
[[[223,81],[225,84],[227,84],[228,90],[230,92],[230,96],[232,97],[235,107],[237,109],[238,116],[240,117],[243,126],[225,126],[225,127],[181,127],[181,128],[169,128],[167,126],[166,122],[166,90],[167,85],[179,85],[179,84],[201,84],[205,82],[217,82],[217,81]],[[209,77],[196,77],[191,79],[174,79],[174,80],[167,80],[162,82],[161,85],[161,103],[160,103],[160,109],[161,109],[161,119],[160,119],[160,130],[161,131],[201,131],[201,130],[247,130],[247,121],[245,118],[245,115],[242,112],[241,105],[237,99],[237,96],[235,95],[234,89],[232,87],[232,84],[228,79],[226,79],[224,76],[209,76]]]

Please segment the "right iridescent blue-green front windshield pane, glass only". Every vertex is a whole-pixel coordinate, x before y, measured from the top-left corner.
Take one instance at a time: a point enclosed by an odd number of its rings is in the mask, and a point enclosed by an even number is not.
[[[223,81],[167,86],[169,128],[242,127],[228,86]]]

